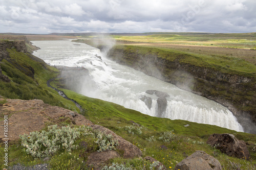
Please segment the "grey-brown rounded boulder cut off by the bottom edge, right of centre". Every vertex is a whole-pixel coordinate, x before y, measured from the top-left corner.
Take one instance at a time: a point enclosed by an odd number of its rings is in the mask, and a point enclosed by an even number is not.
[[[220,162],[204,151],[196,151],[176,164],[175,170],[221,170]]]

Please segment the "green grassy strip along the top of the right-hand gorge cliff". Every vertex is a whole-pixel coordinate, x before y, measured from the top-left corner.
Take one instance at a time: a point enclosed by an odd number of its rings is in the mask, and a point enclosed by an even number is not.
[[[197,54],[190,51],[178,51],[171,48],[163,47],[140,47],[139,45],[120,45],[116,48],[126,48],[130,51],[137,51],[143,55],[146,53],[157,54],[161,58],[168,59],[170,61],[179,59],[181,62],[190,63],[196,66],[211,67],[221,72],[229,74],[237,74],[245,77],[256,77],[256,66],[241,58],[232,56],[218,56],[218,55],[206,55]],[[180,56],[182,55],[182,58]],[[229,67],[227,67],[229,65]]]

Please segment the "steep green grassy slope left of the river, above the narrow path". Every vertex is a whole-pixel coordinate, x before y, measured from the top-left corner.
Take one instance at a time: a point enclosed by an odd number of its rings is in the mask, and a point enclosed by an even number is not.
[[[40,99],[47,104],[71,109],[79,113],[79,109],[71,101],[63,99],[55,90],[47,87],[47,80],[56,77],[59,71],[45,62],[33,60],[31,54],[17,52],[15,48],[7,49],[9,57],[1,62],[4,75],[10,83],[0,81],[0,94],[9,99]],[[32,69],[33,68],[33,69]],[[33,71],[34,70],[34,75]],[[29,75],[29,76],[28,76]]]

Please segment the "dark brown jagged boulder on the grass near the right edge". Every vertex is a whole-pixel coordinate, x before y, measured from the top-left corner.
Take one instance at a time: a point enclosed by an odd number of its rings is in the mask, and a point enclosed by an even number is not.
[[[208,138],[207,143],[228,156],[241,159],[250,158],[246,143],[243,140],[238,140],[232,134],[212,134]]]

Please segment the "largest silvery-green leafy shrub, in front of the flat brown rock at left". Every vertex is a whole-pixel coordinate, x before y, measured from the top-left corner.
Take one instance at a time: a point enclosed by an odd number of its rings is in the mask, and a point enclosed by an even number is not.
[[[74,144],[82,134],[89,134],[87,127],[71,128],[69,126],[57,128],[57,125],[49,126],[48,131],[31,132],[30,135],[20,135],[22,145],[27,148],[26,152],[34,157],[44,158],[56,153],[59,149],[70,152],[77,148]]]

